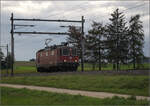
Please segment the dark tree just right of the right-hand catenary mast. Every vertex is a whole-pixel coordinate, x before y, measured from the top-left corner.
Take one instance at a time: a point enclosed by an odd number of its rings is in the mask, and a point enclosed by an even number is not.
[[[104,60],[104,50],[102,48],[102,40],[105,37],[104,33],[105,27],[103,24],[93,21],[92,29],[88,31],[86,36],[86,48],[91,52],[87,53],[87,55],[92,60],[93,70],[95,69],[96,62],[99,62],[99,70],[101,70],[101,62]]]

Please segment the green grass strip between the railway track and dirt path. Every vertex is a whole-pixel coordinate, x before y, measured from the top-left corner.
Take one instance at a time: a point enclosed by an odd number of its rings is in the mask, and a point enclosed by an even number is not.
[[[53,75],[3,77],[1,83],[149,96],[148,76]]]

